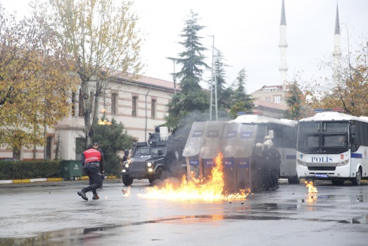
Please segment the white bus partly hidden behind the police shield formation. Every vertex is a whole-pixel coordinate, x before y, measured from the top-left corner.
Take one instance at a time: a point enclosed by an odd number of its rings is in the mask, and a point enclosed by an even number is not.
[[[288,183],[299,183],[300,179],[296,173],[296,129],[298,121],[287,119],[269,118],[262,113],[238,112],[238,117],[233,121],[249,125],[258,125],[258,133],[255,143],[265,142],[264,137],[272,138],[274,147],[281,154],[280,178],[287,178]]]

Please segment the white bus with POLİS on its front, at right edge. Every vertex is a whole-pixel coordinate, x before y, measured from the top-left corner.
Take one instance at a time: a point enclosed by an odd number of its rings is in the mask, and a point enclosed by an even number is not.
[[[300,178],[353,185],[368,178],[368,118],[350,116],[343,109],[316,109],[299,121],[296,145]]]

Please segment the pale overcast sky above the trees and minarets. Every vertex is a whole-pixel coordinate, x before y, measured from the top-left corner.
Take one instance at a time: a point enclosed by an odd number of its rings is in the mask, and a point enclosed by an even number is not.
[[[8,11],[27,13],[28,0],[0,0]],[[297,74],[302,80],[312,80],[329,73],[318,69],[320,61],[331,58],[334,48],[336,4],[338,4],[341,46],[346,52],[349,31],[350,42],[368,36],[367,0],[284,0],[287,24],[288,80]],[[262,85],[280,85],[279,81],[279,24],[282,0],[136,0],[134,11],[139,16],[139,27],[146,41],[141,59],[146,63],[144,75],[172,81],[172,61],[183,47],[179,37],[184,20],[193,9],[198,13],[199,35],[208,51],[207,63],[211,66],[212,37],[215,47],[222,51],[227,82],[236,80],[241,68],[246,68],[248,93]],[[175,66],[175,70],[180,70]],[[203,76],[209,79],[210,72]],[[204,83],[201,85],[205,85]]]

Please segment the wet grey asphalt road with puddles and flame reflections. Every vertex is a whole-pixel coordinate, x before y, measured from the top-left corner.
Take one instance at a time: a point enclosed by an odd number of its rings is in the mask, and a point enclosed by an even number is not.
[[[166,201],[125,197],[105,180],[99,200],[87,180],[0,185],[2,245],[368,245],[368,183],[281,183],[243,200]],[[126,187],[124,187],[126,189]]]

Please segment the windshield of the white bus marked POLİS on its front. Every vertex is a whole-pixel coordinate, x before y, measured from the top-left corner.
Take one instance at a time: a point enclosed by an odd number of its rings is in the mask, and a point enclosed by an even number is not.
[[[297,149],[305,154],[346,152],[348,121],[301,121]]]

